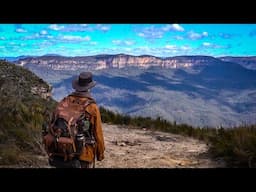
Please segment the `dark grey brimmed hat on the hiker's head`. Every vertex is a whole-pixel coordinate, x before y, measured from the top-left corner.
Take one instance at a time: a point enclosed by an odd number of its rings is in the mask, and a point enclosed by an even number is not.
[[[95,85],[96,82],[92,80],[91,72],[82,72],[77,78],[72,81],[72,87],[77,91],[87,91]]]

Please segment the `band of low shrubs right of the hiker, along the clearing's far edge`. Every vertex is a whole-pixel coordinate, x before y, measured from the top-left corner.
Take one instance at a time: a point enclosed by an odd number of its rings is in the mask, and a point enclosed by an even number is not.
[[[209,144],[213,158],[226,161],[228,167],[256,167],[256,125],[232,128],[199,128],[171,123],[164,119],[130,117],[100,107],[102,121],[194,137]]]

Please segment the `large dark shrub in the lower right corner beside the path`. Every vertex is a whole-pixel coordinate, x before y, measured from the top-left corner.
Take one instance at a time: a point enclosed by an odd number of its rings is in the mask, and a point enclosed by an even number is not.
[[[220,129],[211,138],[210,152],[226,160],[230,167],[256,167],[256,127]]]

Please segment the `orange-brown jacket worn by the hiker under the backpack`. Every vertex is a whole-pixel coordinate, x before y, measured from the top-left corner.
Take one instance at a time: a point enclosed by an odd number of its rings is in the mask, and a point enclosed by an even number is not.
[[[90,97],[81,97],[81,96],[75,96],[75,95],[69,95],[68,97],[79,97],[82,100],[92,99]],[[87,106],[86,111],[92,115],[91,123],[94,130],[96,145],[95,147],[91,145],[85,146],[79,159],[82,161],[93,162],[96,155],[96,159],[98,161],[101,161],[104,159],[104,151],[105,151],[101,114],[96,103],[92,103],[89,106]]]

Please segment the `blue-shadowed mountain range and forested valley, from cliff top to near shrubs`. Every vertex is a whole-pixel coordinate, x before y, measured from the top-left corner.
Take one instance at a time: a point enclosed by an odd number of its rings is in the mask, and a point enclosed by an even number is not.
[[[256,123],[256,57],[46,55],[14,63],[52,84],[57,100],[90,70],[97,102],[117,112],[201,127]]]

